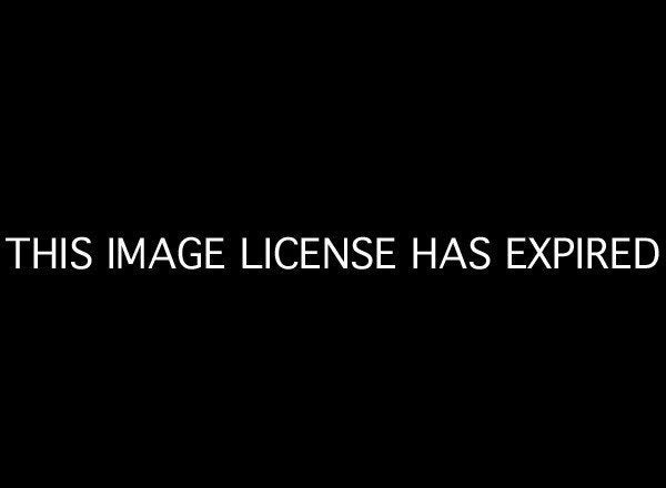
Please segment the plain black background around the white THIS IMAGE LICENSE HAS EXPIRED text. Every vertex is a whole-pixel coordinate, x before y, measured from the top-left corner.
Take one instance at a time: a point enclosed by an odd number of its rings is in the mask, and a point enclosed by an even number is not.
[[[663,264],[511,273],[503,242],[663,245],[657,32],[598,12],[274,13],[33,12],[3,61],[2,236],[395,235],[401,270],[6,266],[13,458],[635,476],[659,431]],[[412,236],[475,235],[488,272],[408,271]]]

